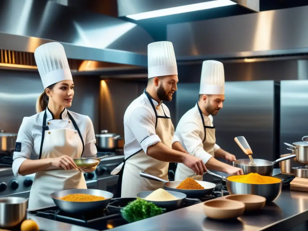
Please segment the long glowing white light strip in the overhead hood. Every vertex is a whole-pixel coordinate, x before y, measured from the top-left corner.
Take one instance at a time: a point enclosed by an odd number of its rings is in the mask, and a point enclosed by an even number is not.
[[[186,12],[192,12],[197,10],[206,10],[206,9],[212,9],[217,8],[221,6],[230,6],[230,5],[236,5],[236,2],[233,2],[231,0],[214,0],[210,2],[201,2],[196,4],[190,4],[185,6],[176,6],[161,10],[153,10],[148,12],[143,12],[139,14],[131,14],[126,15],[127,18],[131,18],[134,20],[141,20],[146,18],[157,18],[161,16],[167,16],[172,14],[181,14]]]

